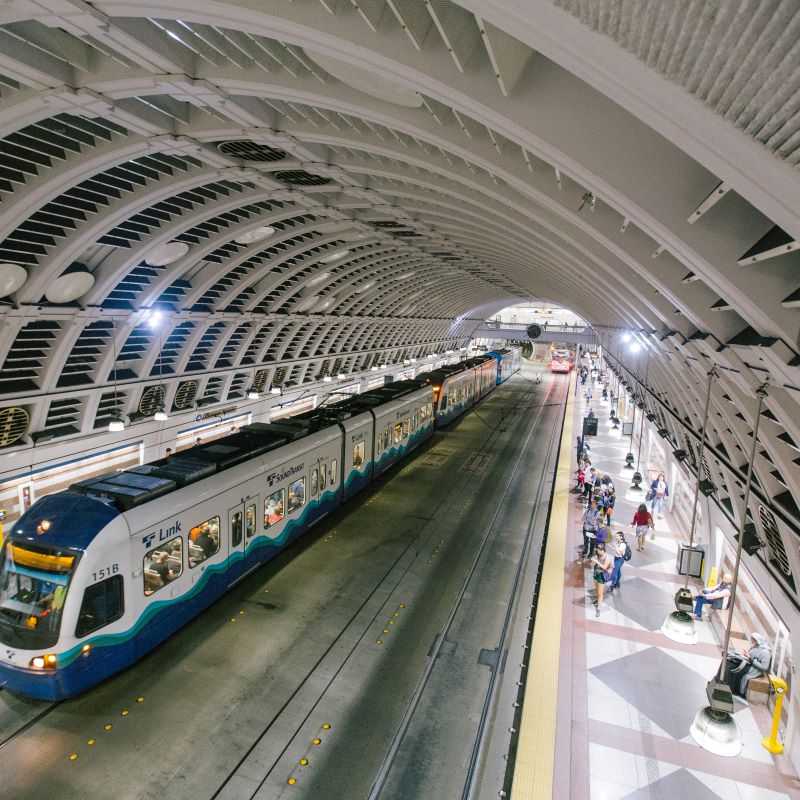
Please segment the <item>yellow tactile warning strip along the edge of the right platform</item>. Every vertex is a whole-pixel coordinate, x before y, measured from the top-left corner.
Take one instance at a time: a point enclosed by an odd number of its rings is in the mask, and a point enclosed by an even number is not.
[[[569,490],[572,485],[572,416],[574,395],[569,393],[561,433],[553,506],[547,530],[539,604],[531,643],[528,680],[538,686],[558,686],[561,653],[561,613],[564,595],[564,558],[567,539]],[[543,602],[544,600],[544,602]],[[533,687],[529,687],[533,688]],[[511,800],[549,800],[553,796],[558,692],[526,691],[522,706],[517,760]]]

